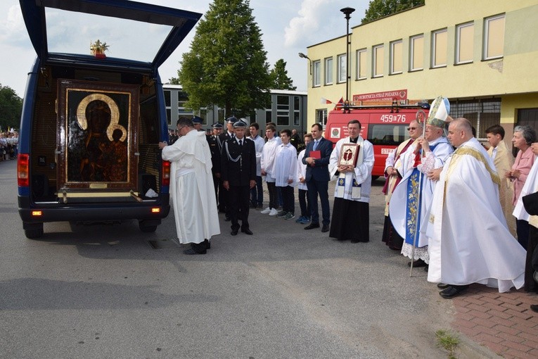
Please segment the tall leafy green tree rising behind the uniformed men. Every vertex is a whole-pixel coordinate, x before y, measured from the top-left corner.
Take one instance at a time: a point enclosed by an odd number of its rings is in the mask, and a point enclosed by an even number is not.
[[[180,64],[188,108],[217,105],[241,116],[270,106],[267,52],[248,0],[214,0]]]

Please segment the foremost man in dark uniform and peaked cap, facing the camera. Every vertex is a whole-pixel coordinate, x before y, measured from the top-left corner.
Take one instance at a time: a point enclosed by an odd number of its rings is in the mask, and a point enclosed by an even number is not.
[[[229,192],[231,235],[241,232],[252,234],[248,225],[250,189],[256,185],[256,149],[254,141],[245,137],[247,124],[233,124],[235,137],[224,142],[222,149],[221,177],[224,189]]]

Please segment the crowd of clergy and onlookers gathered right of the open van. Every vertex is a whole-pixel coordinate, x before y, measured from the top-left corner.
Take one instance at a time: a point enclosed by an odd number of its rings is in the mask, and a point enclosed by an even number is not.
[[[514,159],[503,127],[489,127],[486,151],[470,122],[451,118],[449,108],[447,99],[435,99],[425,123],[412,121],[409,139],[388,156],[382,240],[410,258],[409,266],[423,267],[443,298],[454,298],[473,283],[500,292],[538,291],[532,277],[538,213],[523,206],[523,197],[538,191],[536,133],[529,126],[515,127]],[[300,209],[295,222],[304,229],[321,228],[338,241],[369,241],[373,146],[359,135],[358,120],[348,123],[349,136],[334,148],[318,123],[301,139],[290,130],[276,133],[273,123],[262,137],[260,125],[245,119],[228,118],[225,129],[215,124],[207,135],[195,122],[180,118],[178,139],[160,144],[162,157],[173,164],[172,201],[179,241],[192,244],[187,254],[207,253],[210,237],[220,232],[218,211],[231,222],[233,236],[240,229],[253,234],[251,209],[294,219],[295,187]],[[182,145],[187,141],[193,144]],[[297,155],[298,146],[304,149]],[[174,152],[183,157],[172,156]],[[269,194],[265,208],[263,182]]]

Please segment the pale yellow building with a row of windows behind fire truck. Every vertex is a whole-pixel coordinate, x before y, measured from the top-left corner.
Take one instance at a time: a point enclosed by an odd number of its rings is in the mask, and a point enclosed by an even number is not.
[[[349,38],[347,66],[346,34],[307,48],[307,128],[334,106],[321,99],[345,99],[348,68],[350,101],[406,89],[408,99],[448,97],[451,116],[468,118],[478,137],[499,123],[507,142],[514,125],[537,128],[538,0],[425,0],[351,27]]]

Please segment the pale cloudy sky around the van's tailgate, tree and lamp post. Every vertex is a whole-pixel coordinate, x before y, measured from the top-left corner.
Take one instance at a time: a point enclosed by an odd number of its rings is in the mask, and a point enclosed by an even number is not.
[[[181,8],[197,13],[205,13],[212,3],[209,0],[140,1]],[[307,89],[308,60],[300,58],[297,53],[307,53],[307,46],[345,34],[346,23],[340,8],[349,6],[356,9],[350,19],[350,27],[352,27],[359,25],[368,4],[369,0],[250,0],[252,13],[263,34],[264,48],[267,51],[267,60],[271,67],[279,58],[283,58],[287,62],[286,69],[293,80],[293,84],[297,87],[297,90],[302,91]],[[0,56],[0,83],[3,86],[11,87],[20,97],[23,97],[27,73],[34,62],[35,52],[20,13],[19,1],[1,0],[0,14],[0,48],[2,49],[2,56]],[[68,23],[77,23],[77,20],[75,16],[59,18],[56,22],[56,25],[58,25],[56,28],[59,29],[62,25],[68,26]],[[122,27],[122,30],[125,30],[125,28],[127,26]],[[116,32],[120,31],[117,27],[115,29]],[[95,33],[95,29],[91,31]],[[189,34],[172,56],[160,67],[163,82],[167,82],[170,77],[177,76],[181,54],[188,51],[194,32],[195,30]],[[61,51],[61,44],[71,43],[73,39],[77,38],[77,34],[69,35],[59,32],[56,34],[58,39],[56,46],[58,47],[55,47],[54,51]],[[148,34],[137,34],[137,36],[140,37],[141,43],[143,43],[142,37],[145,36],[148,36],[148,43],[152,42],[152,34],[149,32]],[[49,37],[52,37],[51,34],[49,34]],[[104,41],[110,44],[110,56],[113,56],[113,49],[115,46],[117,49],[118,44],[115,39],[110,37],[113,36],[103,34]],[[50,39],[49,42],[51,42]],[[51,45],[53,44],[49,44],[49,46]],[[85,47],[87,47],[86,42],[84,42]],[[151,51],[153,52],[148,56],[153,58],[151,56],[154,55],[155,51]]]

